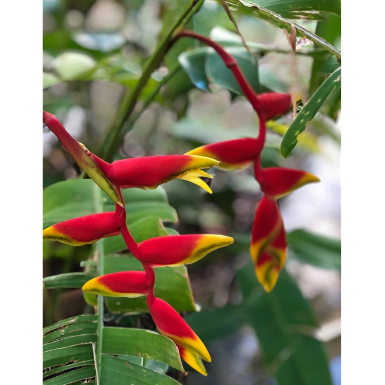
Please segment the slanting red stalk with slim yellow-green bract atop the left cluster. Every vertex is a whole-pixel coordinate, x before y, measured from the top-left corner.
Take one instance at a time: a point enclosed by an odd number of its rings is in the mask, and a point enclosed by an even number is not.
[[[95,162],[92,153],[73,139],[63,125],[49,112],[43,111],[43,122],[60,140],[63,147],[69,152],[73,160],[78,163],[84,172],[116,203],[123,207],[117,188],[105,176]]]

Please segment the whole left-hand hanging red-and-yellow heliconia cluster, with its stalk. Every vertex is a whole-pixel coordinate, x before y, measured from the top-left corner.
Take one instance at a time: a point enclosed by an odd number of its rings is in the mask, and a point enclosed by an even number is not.
[[[43,239],[81,246],[122,234],[131,254],[142,263],[144,272],[119,272],[96,277],[84,284],[83,291],[109,297],[145,295],[159,332],[176,343],[181,357],[192,368],[206,375],[202,359],[211,361],[210,355],[179,313],[167,302],[155,297],[153,268],[194,263],[211,251],[232,244],[234,239],[213,234],[171,235],[147,239],[138,244],[126,224],[121,189],[156,188],[172,179],[183,179],[211,193],[200,177],[212,177],[202,169],[219,162],[196,155],[170,155],[124,159],[110,164],[72,138],[54,115],[43,111],[43,121],[76,163],[115,202],[115,211],[74,218],[47,227],[43,230]]]

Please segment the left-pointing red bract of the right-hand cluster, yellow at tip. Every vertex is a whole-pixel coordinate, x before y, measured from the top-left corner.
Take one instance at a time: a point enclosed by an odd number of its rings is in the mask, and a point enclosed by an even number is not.
[[[262,150],[263,143],[255,138],[242,138],[206,144],[187,152],[220,161],[215,167],[222,170],[238,170],[251,166]]]

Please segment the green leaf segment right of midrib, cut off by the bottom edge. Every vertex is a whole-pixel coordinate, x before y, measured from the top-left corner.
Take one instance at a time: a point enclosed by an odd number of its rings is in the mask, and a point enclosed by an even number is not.
[[[179,382],[141,365],[103,354],[101,383],[108,385],[180,385]]]

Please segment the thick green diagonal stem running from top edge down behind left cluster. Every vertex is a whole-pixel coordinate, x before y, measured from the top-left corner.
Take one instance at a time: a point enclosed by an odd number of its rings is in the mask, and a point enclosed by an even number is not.
[[[118,109],[118,113],[112,122],[107,138],[104,142],[104,145],[101,150],[101,157],[106,161],[110,161],[114,152],[117,150],[121,144],[124,132],[122,131],[123,124],[127,121],[130,114],[132,113],[134,107],[137,104],[137,99],[147,84],[148,79],[150,78],[151,73],[159,67],[160,63],[163,60],[167,49],[169,48],[169,42],[171,37],[174,35],[174,32],[183,27],[192,17],[192,15],[200,8],[204,0],[192,0],[187,9],[179,17],[177,22],[171,27],[168,34],[163,39],[162,43],[157,47],[156,51],[152,56],[147,60],[145,67],[143,69],[142,76],[140,77],[136,88],[131,94],[126,94],[123,97],[121,105]]]

